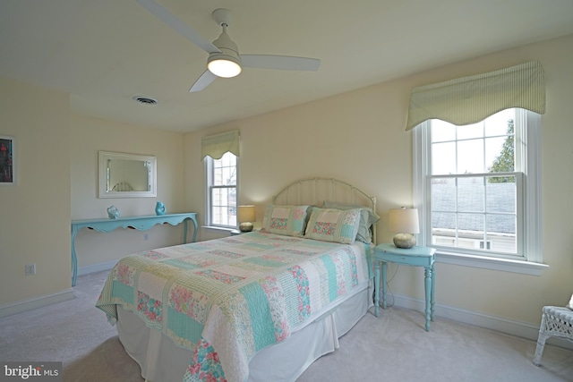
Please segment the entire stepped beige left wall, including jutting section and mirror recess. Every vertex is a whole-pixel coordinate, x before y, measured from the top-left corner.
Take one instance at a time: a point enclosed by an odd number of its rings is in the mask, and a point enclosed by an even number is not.
[[[17,140],[16,186],[0,186],[0,317],[73,297],[70,222],[107,217],[184,212],[183,134],[141,129],[70,114],[69,96],[0,78],[0,135]],[[98,199],[98,150],[158,157],[158,197]],[[183,225],[156,225],[147,233],[81,230],[79,267],[115,260],[137,250],[183,241]],[[35,263],[37,274],[24,276]]]

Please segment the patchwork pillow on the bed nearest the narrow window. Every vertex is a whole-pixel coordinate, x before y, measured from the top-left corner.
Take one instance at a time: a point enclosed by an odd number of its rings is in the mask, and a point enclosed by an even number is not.
[[[275,206],[269,204],[262,219],[262,232],[302,237],[308,206]]]

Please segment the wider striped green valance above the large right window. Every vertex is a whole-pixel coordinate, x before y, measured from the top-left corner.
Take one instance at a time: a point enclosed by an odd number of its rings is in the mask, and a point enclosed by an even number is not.
[[[543,67],[536,61],[412,89],[406,131],[429,119],[478,123],[509,107],[545,113]]]

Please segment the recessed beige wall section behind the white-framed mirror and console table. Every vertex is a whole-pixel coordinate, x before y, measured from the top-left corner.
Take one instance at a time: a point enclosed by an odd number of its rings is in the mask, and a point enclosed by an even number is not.
[[[73,115],[70,141],[73,220],[107,218],[107,208],[112,205],[119,208],[121,216],[155,215],[158,200],[165,204],[167,214],[185,212],[182,133],[141,129],[125,123]],[[156,156],[157,198],[98,199],[100,150]],[[156,225],[145,232],[117,229],[111,233],[98,233],[83,229],[76,236],[75,249],[81,270],[81,267],[113,262],[135,251],[181,242],[183,225]]]

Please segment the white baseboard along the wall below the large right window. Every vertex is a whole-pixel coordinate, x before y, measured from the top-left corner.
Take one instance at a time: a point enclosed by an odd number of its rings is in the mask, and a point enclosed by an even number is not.
[[[395,306],[421,312],[425,311],[426,302],[423,300],[416,300],[411,297],[396,294],[394,294],[393,297]],[[390,302],[391,298],[392,297],[389,296]],[[539,327],[526,322],[490,316],[477,311],[463,310],[438,303],[435,308],[436,318],[453,319],[458,322],[463,322],[464,324],[474,325],[475,327],[484,327],[486,329],[495,330],[508,335],[515,335],[535,342],[537,341],[537,335],[539,335]],[[542,312],[540,310],[540,318],[541,314]],[[550,337],[547,340],[547,344],[554,344],[560,347],[573,349],[573,343],[558,337]]]

